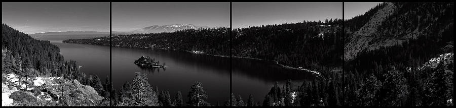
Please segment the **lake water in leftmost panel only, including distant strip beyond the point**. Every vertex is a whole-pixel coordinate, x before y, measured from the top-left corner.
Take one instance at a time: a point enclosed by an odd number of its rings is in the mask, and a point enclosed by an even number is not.
[[[82,66],[80,71],[87,75],[98,75],[101,81],[104,82],[106,76],[109,76],[109,46],[89,45],[89,44],[73,44],[62,43],[65,39],[84,39],[93,37],[102,37],[109,35],[50,35],[31,37],[39,40],[49,40],[52,44],[60,48],[60,54],[65,61],[75,60],[78,65]]]

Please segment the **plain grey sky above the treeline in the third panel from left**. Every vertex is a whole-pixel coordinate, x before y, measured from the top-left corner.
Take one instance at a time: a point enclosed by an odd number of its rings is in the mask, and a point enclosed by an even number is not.
[[[342,19],[342,3],[233,3],[233,28]]]

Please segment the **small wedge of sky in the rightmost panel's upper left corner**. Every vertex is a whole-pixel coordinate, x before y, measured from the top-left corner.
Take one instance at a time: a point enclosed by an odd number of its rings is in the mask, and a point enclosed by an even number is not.
[[[381,2],[346,2],[345,4],[345,15],[344,19],[351,19],[358,16],[359,14],[364,14],[374,8]]]

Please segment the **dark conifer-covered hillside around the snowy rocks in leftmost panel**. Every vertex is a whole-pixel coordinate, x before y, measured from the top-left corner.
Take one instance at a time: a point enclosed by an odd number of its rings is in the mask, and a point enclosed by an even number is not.
[[[108,85],[109,82],[102,84],[98,76],[92,77],[91,75],[81,73],[79,71],[80,66],[78,63],[71,60],[65,61],[59,51],[59,47],[51,44],[49,41],[33,39],[25,33],[15,30],[6,24],[2,24],[2,78],[5,79],[2,80],[2,83],[6,84],[6,86],[15,86],[22,92],[31,92],[35,93],[35,95],[39,95],[40,90],[27,89],[28,85],[33,84],[29,79],[37,77],[63,77],[75,79],[78,83],[83,85],[90,85],[98,92],[95,94],[108,97],[108,95],[106,95],[108,94],[108,90],[106,90],[108,88],[103,88],[103,85]],[[25,83],[9,83],[6,80],[7,75],[17,75],[16,80]],[[58,83],[60,82],[53,82],[53,84]],[[77,95],[72,96],[74,97]],[[21,101],[20,99],[24,98],[17,99],[19,99],[17,101]],[[29,101],[16,105],[30,105],[34,102],[36,101]],[[103,102],[101,101],[93,101],[90,105],[101,105],[102,103]],[[57,104],[68,105],[72,103]]]

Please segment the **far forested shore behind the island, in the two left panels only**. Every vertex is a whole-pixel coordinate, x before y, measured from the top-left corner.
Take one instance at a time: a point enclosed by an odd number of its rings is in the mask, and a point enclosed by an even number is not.
[[[112,46],[136,48],[164,48],[229,55],[229,28],[185,29],[176,32],[114,35]],[[109,45],[109,37],[68,39],[63,42]]]

